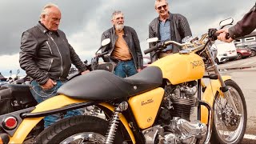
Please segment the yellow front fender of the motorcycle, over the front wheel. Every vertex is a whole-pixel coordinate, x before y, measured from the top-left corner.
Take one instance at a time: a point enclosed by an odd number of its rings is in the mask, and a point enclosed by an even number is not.
[[[231,79],[230,76],[222,76],[223,81],[225,82],[228,79]],[[206,90],[202,95],[202,101],[208,102],[210,106],[212,107],[214,104],[214,97],[215,94],[218,93],[222,94],[222,91],[220,90],[221,83],[218,79],[216,80],[210,80],[210,84],[206,86]],[[201,106],[201,122],[207,123],[208,122],[208,109],[206,106]]]

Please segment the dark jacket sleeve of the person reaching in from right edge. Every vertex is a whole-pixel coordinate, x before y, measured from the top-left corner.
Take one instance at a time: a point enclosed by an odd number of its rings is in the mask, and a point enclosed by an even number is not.
[[[256,28],[256,3],[254,7],[236,25],[229,28],[231,38],[250,34]]]

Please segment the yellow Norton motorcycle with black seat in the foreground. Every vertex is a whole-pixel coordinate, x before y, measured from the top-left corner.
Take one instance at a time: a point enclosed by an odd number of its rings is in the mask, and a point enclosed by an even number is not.
[[[229,20],[220,26],[233,22]],[[93,105],[104,112],[104,118],[64,118],[43,130],[34,143],[241,142],[246,131],[246,102],[239,86],[221,76],[210,53],[215,32],[211,29],[199,40],[182,44],[159,42],[145,53],[170,44],[182,50],[129,78],[94,70],[71,79],[58,90],[58,96],[0,116],[0,143],[22,143],[46,115]],[[197,120],[193,121],[194,109]]]

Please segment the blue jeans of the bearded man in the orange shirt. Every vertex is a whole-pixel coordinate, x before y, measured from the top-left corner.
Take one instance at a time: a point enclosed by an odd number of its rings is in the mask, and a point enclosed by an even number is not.
[[[119,61],[117,66],[114,68],[114,74],[121,78],[130,77],[136,74],[138,71],[134,65],[134,61]]]

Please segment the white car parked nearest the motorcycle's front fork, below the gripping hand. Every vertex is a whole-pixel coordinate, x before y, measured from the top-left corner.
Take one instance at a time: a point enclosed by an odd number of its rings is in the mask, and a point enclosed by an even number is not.
[[[217,49],[215,45],[210,47],[210,50],[212,51],[212,54],[214,55],[214,60],[217,64],[223,63],[223,62],[228,62],[229,57],[223,50]]]

